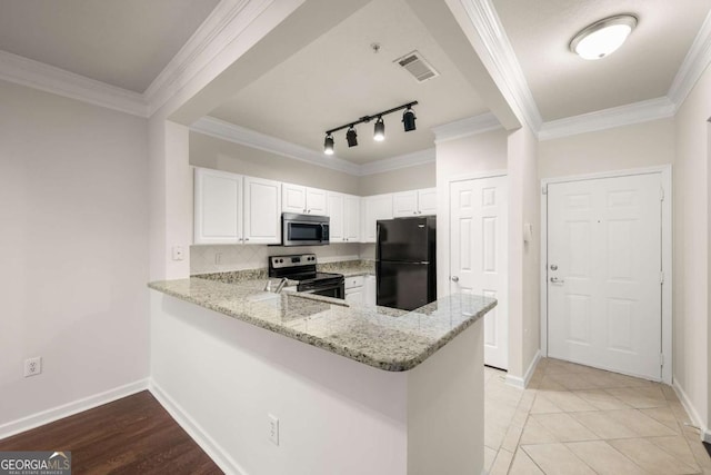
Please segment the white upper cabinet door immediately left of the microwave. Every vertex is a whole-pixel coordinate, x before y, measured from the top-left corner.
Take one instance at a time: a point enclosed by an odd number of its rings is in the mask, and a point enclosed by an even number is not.
[[[281,182],[244,177],[244,244],[281,243]]]

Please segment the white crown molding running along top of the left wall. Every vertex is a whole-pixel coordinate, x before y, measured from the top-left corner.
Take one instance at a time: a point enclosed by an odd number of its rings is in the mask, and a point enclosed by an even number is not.
[[[0,50],[0,79],[58,96],[148,117],[143,96]]]

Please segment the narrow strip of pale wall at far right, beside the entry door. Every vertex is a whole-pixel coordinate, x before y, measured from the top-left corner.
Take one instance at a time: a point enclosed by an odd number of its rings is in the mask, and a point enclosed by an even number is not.
[[[708,427],[711,398],[709,343],[709,125],[707,69],[675,117],[674,384]]]

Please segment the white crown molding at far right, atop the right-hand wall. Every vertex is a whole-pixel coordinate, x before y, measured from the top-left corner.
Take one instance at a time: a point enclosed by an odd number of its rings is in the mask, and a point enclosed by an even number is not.
[[[703,21],[667,93],[677,105],[677,109],[687,99],[709,63],[711,63],[711,12]]]

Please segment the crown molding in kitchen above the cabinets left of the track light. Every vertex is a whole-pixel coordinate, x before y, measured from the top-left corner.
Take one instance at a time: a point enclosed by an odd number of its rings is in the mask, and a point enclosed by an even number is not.
[[[321,152],[268,136],[213,117],[203,117],[190,126],[190,130],[206,136],[252,147],[282,157],[306,161],[319,167],[330,168],[350,175],[360,175],[360,167],[336,156],[327,157]]]

